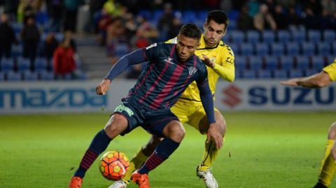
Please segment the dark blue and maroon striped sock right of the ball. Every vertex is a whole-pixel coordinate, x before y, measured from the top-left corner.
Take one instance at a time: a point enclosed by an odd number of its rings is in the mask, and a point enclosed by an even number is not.
[[[162,142],[156,147],[153,154],[148,157],[145,164],[139,168],[139,173],[149,173],[149,171],[153,170],[163,161],[168,159],[168,157],[179,147],[180,143],[176,143],[174,140],[169,138],[165,138]]]

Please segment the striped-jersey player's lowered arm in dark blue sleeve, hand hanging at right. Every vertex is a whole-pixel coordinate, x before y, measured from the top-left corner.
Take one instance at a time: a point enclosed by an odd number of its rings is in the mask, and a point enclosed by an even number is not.
[[[216,119],[214,115],[214,98],[209,88],[209,82],[207,81],[204,84],[199,84],[199,82],[197,82],[197,87],[200,90],[200,98],[205,113],[207,113],[207,118],[209,122],[207,143],[209,143],[209,141],[212,139],[214,140],[216,147],[220,149],[223,146],[223,138],[221,132],[219,131],[219,127],[216,124]]]

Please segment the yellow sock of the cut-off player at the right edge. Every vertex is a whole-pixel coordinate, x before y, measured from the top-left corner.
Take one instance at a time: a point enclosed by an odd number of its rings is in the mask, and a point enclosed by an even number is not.
[[[321,172],[320,175],[318,175],[318,181],[327,187],[330,185],[336,171],[335,159],[332,157],[332,154],[330,154],[334,142],[334,140],[327,141],[327,145],[325,146],[325,156],[321,161]]]

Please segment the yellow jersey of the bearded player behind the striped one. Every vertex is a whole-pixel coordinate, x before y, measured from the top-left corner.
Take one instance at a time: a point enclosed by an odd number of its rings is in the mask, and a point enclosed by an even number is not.
[[[177,37],[170,39],[166,43],[177,43]],[[235,80],[235,54],[230,46],[223,43],[223,41],[220,41],[218,45],[213,48],[207,47],[203,34],[200,40],[200,46],[195,51],[195,55],[200,58],[202,58],[202,54],[209,57],[209,59],[216,64],[214,68],[207,66],[209,87],[214,95],[216,92],[216,83],[220,76],[229,82]],[[201,101],[200,91],[197,88],[196,82],[192,82],[183,94],[181,94],[180,98],[191,101]]]

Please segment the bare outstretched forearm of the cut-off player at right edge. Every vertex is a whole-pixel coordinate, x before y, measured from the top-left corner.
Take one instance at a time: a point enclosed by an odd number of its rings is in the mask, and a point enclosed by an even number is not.
[[[309,88],[320,88],[325,87],[330,84],[332,80],[328,73],[321,71],[320,73],[316,73],[314,75],[310,75],[304,78],[293,78],[290,80],[281,81],[282,85],[288,86],[302,86]]]

